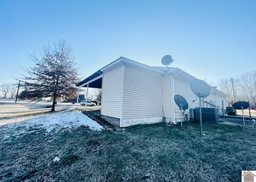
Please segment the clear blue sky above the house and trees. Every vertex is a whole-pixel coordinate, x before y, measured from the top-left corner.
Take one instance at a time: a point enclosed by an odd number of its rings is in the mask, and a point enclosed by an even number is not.
[[[0,84],[16,83],[28,53],[65,39],[86,78],[123,56],[178,67],[216,84],[256,70],[255,0],[2,0]]]

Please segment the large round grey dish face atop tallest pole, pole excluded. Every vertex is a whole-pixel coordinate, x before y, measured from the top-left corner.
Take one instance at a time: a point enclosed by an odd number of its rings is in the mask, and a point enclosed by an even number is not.
[[[203,80],[193,80],[190,83],[190,88],[192,92],[194,92],[194,94],[196,94],[196,96],[198,96],[199,98],[204,99],[210,95],[210,87]]]

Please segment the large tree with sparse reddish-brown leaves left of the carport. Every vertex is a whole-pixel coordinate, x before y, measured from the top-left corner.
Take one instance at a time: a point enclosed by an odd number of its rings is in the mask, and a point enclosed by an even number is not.
[[[51,112],[54,112],[58,98],[76,97],[78,68],[69,43],[60,39],[52,46],[49,43],[44,46],[38,56],[35,53],[29,56],[34,65],[26,69],[29,76],[24,76],[23,84],[28,90],[28,98],[40,100],[51,97]]]

